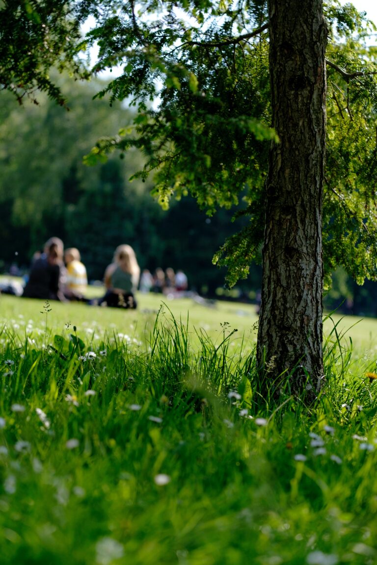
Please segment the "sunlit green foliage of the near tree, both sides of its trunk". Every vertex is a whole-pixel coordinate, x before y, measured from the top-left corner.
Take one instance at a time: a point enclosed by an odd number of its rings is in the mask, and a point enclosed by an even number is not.
[[[105,7],[119,6],[107,15]],[[134,127],[102,138],[87,162],[114,150],[144,151],[145,178],[155,171],[154,194],[163,206],[191,192],[209,215],[244,201],[249,224],[228,238],[214,261],[228,282],[246,276],[263,241],[263,185],[271,120],[265,2],[171,4],[89,1],[97,26],[94,71],[123,66],[98,95],[137,106]],[[328,136],[323,203],[327,285],[343,265],[359,283],[376,279],[375,48],[365,38],[374,25],[350,4],[328,2]],[[153,104],[151,103],[152,101]],[[362,159],[360,158],[362,155]],[[246,194],[242,192],[245,190]],[[350,251],[352,250],[352,252]]]

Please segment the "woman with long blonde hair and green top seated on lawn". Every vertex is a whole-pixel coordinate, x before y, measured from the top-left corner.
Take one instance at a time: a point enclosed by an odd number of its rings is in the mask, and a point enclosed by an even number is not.
[[[131,245],[116,247],[112,263],[106,267],[104,281],[105,296],[98,304],[110,307],[136,308],[135,291],[140,278],[135,251]]]

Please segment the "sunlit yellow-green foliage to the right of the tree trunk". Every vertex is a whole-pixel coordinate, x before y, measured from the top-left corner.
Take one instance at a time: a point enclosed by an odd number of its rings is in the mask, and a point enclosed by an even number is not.
[[[328,64],[323,247],[327,272],[341,264],[362,284],[365,278],[376,280],[377,275],[373,251],[377,236],[376,49],[365,44],[376,28],[351,5],[341,8],[336,21],[328,48],[332,63]],[[335,41],[339,33],[342,41]]]

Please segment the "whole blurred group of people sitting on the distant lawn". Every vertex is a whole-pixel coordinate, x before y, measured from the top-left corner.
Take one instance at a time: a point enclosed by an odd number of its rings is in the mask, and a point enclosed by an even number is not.
[[[112,262],[106,267],[103,277],[105,294],[100,299],[86,297],[88,276],[80,251],[76,247],[64,250],[63,241],[51,237],[44,249],[37,251],[22,295],[26,298],[79,301],[99,306],[136,308],[136,290],[166,295],[183,293],[188,289],[188,280],[181,270],[172,268],[163,271],[157,268],[152,274],[148,269],[140,273],[135,251],[130,245],[116,247]],[[139,286],[140,285],[140,286]]]

